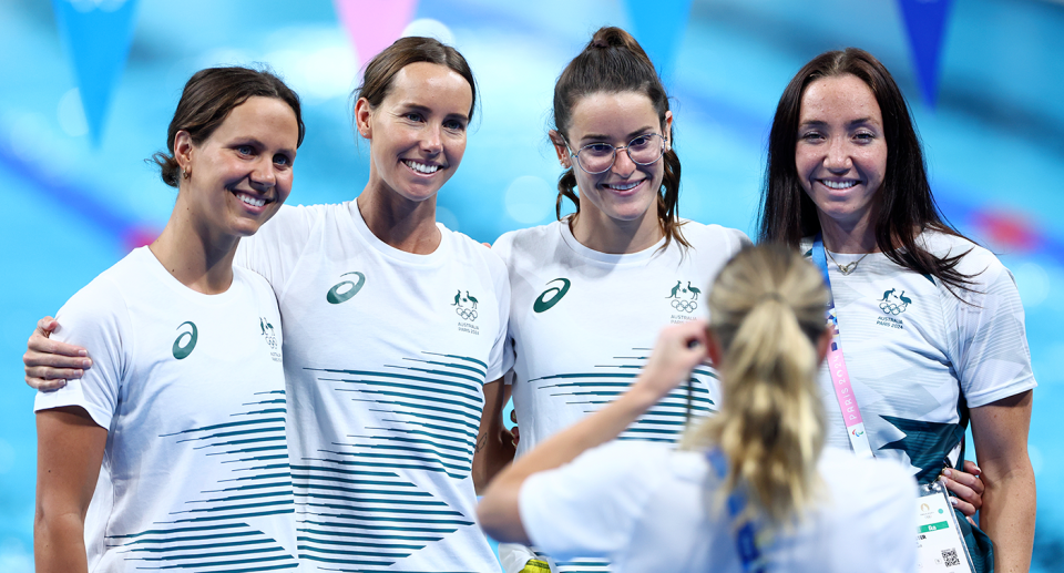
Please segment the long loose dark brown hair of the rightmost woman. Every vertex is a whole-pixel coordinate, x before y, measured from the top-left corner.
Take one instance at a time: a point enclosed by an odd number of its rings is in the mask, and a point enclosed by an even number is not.
[[[917,236],[922,229],[968,237],[944,222],[934,203],[920,139],[912,125],[904,95],[887,68],[872,54],[857,48],[825,52],[814,58],[798,71],[779,98],[768,136],[768,170],[761,195],[759,239],[798,248],[802,237],[820,232],[817,206],[802,190],[795,164],[801,98],[806,88],[816,80],[847,74],[857,76],[868,85],[883,115],[887,173],[876,198],[877,246],[890,260],[904,268],[968,290],[971,277],[956,270],[958,263],[966,252],[939,258],[917,244]]]

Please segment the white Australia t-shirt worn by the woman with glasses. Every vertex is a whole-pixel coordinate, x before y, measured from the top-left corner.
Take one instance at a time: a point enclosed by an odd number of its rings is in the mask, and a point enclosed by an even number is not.
[[[624,255],[580,244],[567,221],[507,233],[495,242],[492,249],[507,262],[512,289],[515,359],[508,381],[521,428],[518,456],[624,393],[662,328],[706,316],[710,283],[749,239],[719,225],[686,222],[682,228],[688,249],[673,241],[658,250],[662,239]],[[693,378],[690,415],[716,411],[716,372],[699,367]],[[621,439],[673,443],[686,421],[687,391],[681,387]],[[521,550],[503,545],[500,555],[509,551]],[[554,564],[563,572],[607,570],[602,559]]]

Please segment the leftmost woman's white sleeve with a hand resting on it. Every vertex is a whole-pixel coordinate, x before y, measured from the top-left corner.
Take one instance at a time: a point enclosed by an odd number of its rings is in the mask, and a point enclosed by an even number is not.
[[[55,319],[60,327],[52,338],[84,347],[92,368],[59,390],[39,391],[33,410],[80,406],[92,421],[110,429],[135,344],[125,300],[116,285],[96,277],[63,305]]]

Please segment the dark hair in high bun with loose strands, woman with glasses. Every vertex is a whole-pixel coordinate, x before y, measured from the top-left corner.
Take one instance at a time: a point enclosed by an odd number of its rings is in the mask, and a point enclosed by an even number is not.
[[[581,98],[593,93],[637,92],[646,95],[654,105],[662,127],[665,126],[665,112],[668,111],[668,94],[662,84],[651,59],[632,38],[620,28],[601,28],[592,37],[587,47],[573,58],[557,83],[554,84],[554,131],[569,139],[573,121],[573,108]],[[675,129],[673,130],[675,133]],[[675,239],[681,245],[690,246],[681,233],[681,223],[676,214],[679,201],[679,157],[676,145],[669,142],[669,149],[662,157],[665,176],[657,196],[657,218],[665,233],[665,245]],[[580,216],[580,199],[576,196],[576,174],[572,166],[557,180],[557,199],[555,214],[562,218],[562,202],[569,198],[576,206],[576,213],[570,225]],[[664,248],[664,247],[663,247]]]

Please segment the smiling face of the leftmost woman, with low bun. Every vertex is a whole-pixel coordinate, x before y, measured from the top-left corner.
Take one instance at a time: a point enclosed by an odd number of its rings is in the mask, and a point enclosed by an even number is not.
[[[253,235],[288,198],[298,139],[291,108],[262,96],[234,108],[200,144],[177,132],[174,155],[187,174],[178,201],[208,233]]]

